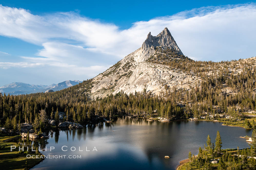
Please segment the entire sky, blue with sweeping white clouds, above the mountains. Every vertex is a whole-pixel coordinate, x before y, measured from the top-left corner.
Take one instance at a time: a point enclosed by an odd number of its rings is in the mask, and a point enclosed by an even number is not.
[[[256,56],[255,1],[0,1],[0,86],[86,80],[165,27],[196,60]]]

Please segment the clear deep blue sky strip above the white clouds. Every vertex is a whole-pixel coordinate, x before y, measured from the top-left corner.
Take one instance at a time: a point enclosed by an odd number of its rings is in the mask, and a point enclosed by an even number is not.
[[[3,6],[24,8],[34,15],[75,11],[91,19],[114,23],[120,29],[128,29],[136,21],[173,15],[181,11],[205,6],[245,4],[255,1],[0,1]]]

